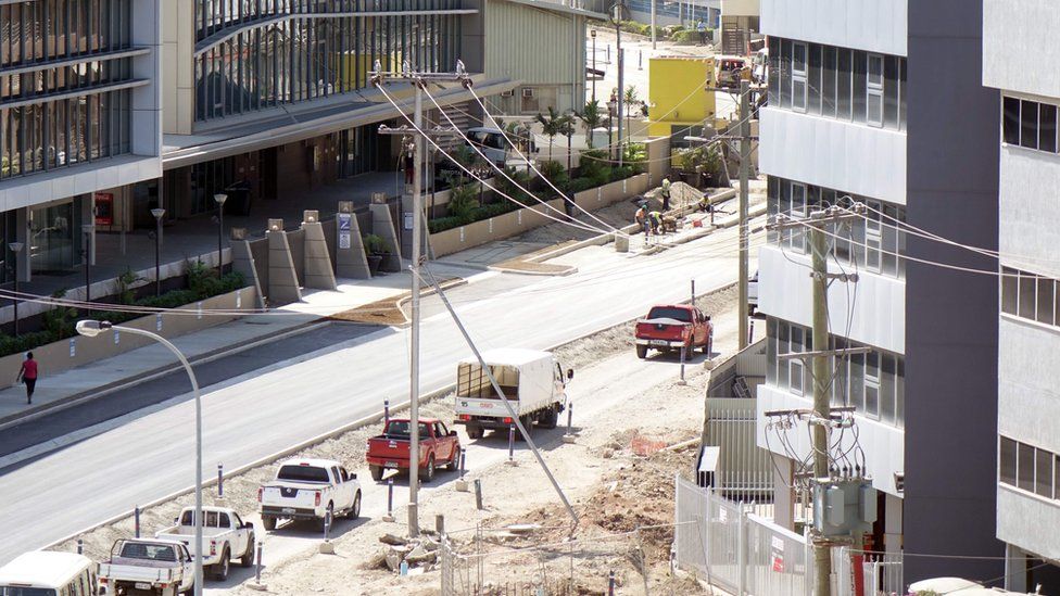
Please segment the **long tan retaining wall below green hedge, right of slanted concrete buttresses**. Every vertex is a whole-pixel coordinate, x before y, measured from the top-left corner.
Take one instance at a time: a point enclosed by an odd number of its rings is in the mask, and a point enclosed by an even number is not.
[[[585,211],[598,210],[619,201],[626,200],[634,194],[643,194],[648,188],[648,175],[638,174],[624,180],[618,180],[575,194],[575,201]],[[564,212],[563,200],[555,199],[548,201],[558,213]],[[449,254],[479,246],[494,240],[503,240],[513,236],[518,236],[533,228],[554,223],[552,219],[542,215],[542,212],[558,217],[556,211],[548,210],[544,205],[525,207],[512,213],[505,213],[496,217],[475,221],[467,226],[460,226],[451,230],[432,233],[430,237],[431,249],[434,257],[440,258]]]

